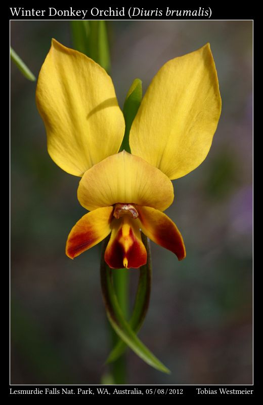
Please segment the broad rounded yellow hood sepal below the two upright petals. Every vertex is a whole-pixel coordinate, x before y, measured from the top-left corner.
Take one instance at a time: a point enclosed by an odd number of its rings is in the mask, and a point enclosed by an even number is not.
[[[141,157],[125,151],[109,156],[87,170],[79,182],[79,203],[87,210],[132,203],[166,210],[173,187],[165,174]]]

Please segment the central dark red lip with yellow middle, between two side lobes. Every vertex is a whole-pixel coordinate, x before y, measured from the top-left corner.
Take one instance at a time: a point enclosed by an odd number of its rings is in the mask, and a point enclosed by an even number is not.
[[[111,268],[138,268],[146,264],[147,252],[142,242],[140,223],[128,215],[112,222],[112,233],[105,251],[105,262]]]

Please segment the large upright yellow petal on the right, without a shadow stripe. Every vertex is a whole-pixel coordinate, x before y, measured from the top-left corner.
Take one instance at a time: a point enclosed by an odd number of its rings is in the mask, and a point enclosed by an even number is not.
[[[169,179],[185,176],[205,159],[221,113],[209,44],[172,59],[150,84],[131,126],[131,152]]]

